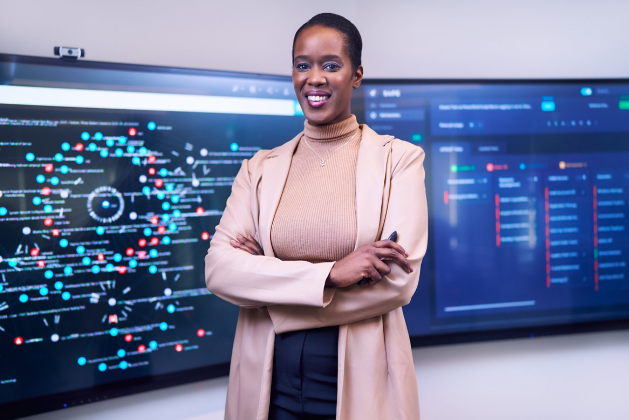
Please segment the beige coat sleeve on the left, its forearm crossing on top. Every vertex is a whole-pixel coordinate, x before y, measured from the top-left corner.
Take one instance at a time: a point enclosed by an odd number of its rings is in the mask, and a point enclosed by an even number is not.
[[[245,308],[323,307],[335,291],[324,287],[333,263],[281,261],[248,254],[230,245],[237,234],[257,236],[257,174],[267,159],[264,152],[257,152],[250,161],[245,159],[234,179],[205,257],[206,286],[214,295]]]

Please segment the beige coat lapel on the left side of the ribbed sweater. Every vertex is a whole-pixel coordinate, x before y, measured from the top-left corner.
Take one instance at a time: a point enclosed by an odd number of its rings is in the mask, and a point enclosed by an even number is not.
[[[302,135],[303,133],[299,133],[291,141],[270,150],[267,160],[264,162],[259,188],[259,221],[260,245],[262,245],[264,254],[267,256],[274,256],[271,246],[271,224],[288,178],[292,155]]]

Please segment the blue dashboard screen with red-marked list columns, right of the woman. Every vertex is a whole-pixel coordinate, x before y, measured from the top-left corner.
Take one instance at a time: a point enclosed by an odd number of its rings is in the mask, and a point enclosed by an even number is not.
[[[364,106],[426,152],[411,336],[629,317],[629,81],[367,82]]]

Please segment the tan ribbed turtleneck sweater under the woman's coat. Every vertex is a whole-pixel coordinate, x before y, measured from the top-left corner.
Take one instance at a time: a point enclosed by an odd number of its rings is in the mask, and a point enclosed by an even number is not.
[[[338,261],[353,251],[361,135],[354,115],[325,126],[304,122],[271,225],[277,258],[321,263]]]

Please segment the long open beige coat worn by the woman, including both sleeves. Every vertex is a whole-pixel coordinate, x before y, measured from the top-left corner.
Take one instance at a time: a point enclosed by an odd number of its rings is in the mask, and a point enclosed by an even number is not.
[[[402,314],[417,287],[428,240],[420,147],[361,125],[356,168],[356,247],[398,231],[414,272],[389,264],[372,287],[324,288],[331,263],[274,258],[270,227],[303,133],[243,161],[205,258],[210,292],[240,306],[225,407],[227,420],[266,420],[275,335],[339,325],[338,420],[416,420],[415,366]],[[315,181],[315,180],[313,180]],[[333,205],[333,203],[331,203]],[[230,246],[251,234],[254,256]],[[266,306],[269,314],[259,310]]]

